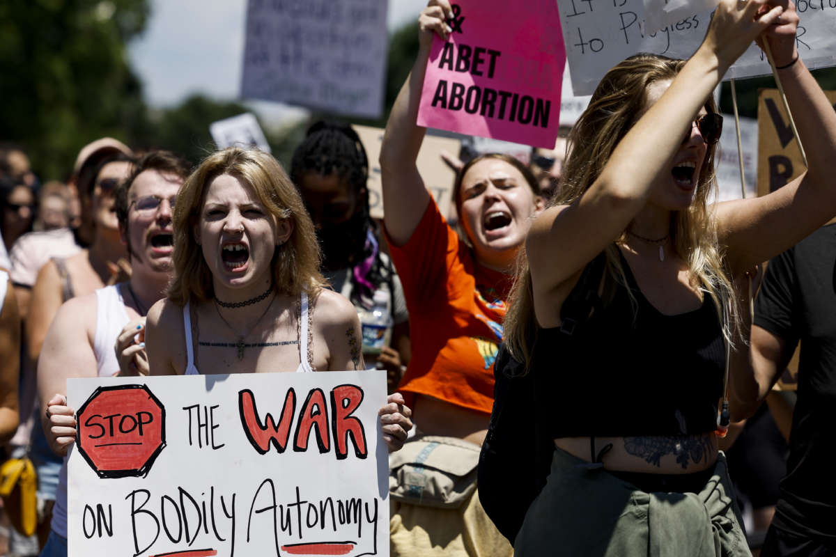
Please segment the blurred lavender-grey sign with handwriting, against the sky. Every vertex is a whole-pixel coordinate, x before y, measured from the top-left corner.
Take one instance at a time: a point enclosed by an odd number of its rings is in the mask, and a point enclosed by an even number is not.
[[[248,0],[241,95],[380,116],[386,0]]]

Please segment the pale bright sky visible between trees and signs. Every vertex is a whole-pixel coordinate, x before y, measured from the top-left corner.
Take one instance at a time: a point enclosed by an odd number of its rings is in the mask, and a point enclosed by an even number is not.
[[[390,31],[417,19],[424,6],[426,0],[389,0]],[[145,34],[129,46],[150,105],[170,107],[197,92],[237,99],[247,0],[151,0],[151,10]],[[252,105],[265,116],[284,112],[275,103]]]

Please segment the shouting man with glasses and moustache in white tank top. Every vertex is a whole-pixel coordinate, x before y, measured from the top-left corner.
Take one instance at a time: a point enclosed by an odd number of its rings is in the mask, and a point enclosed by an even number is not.
[[[172,268],[171,215],[188,165],[165,152],[145,154],[116,190],[115,211],[128,246],[130,281],[106,286],[61,306],[38,362],[38,395],[51,448],[65,455],[75,420],[65,406],[69,377],[148,373],[145,314],[165,295]],[[71,433],[70,433],[71,432]],[[67,473],[61,470],[52,532],[42,555],[67,552]]]

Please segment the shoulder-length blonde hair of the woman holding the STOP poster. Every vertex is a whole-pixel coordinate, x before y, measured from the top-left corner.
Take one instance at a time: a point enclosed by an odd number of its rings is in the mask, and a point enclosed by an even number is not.
[[[212,180],[231,175],[250,185],[259,202],[277,220],[293,221],[293,232],[273,252],[273,287],[280,294],[298,296],[301,291],[315,296],[324,286],[319,273],[319,244],[314,223],[282,166],[258,149],[230,147],[210,154],[191,173],[177,193],[174,209],[174,280],[168,298],[185,306],[190,296],[206,301],[214,296],[212,271],[193,230],[200,221],[201,208]]]

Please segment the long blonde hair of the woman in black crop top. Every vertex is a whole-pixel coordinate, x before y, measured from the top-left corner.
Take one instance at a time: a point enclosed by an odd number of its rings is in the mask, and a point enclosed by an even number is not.
[[[619,63],[601,79],[589,107],[569,134],[568,157],[563,165],[563,185],[549,205],[568,205],[578,200],[598,179],[615,146],[638,120],[645,108],[650,84],[675,78],[684,60],[656,54],[636,54]],[[708,112],[716,112],[713,98],[706,102]],[[711,296],[718,315],[724,315],[726,300],[734,300],[732,282],[726,274],[723,256],[717,244],[716,221],[708,210],[707,200],[716,192],[714,153],[716,145],[708,145],[700,170],[700,180],[691,206],[671,215],[670,238],[676,253],[688,264],[696,286]],[[626,286],[616,242],[624,241],[624,232],[605,248],[607,280]],[[628,292],[630,290],[628,289]],[[635,300],[634,300],[635,302]],[[732,304],[737,316],[737,308]],[[730,327],[722,325],[726,340],[731,342]],[[737,322],[737,319],[733,319]],[[511,353],[526,369],[531,365],[538,324],[534,318],[531,271],[525,249],[517,260],[517,276],[509,296],[505,316],[505,342]]]

